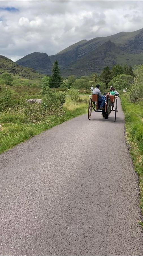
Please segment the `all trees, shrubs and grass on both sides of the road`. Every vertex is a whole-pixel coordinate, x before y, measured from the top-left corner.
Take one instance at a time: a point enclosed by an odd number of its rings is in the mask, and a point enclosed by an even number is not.
[[[33,78],[3,72],[0,75],[0,153],[87,112],[90,86],[100,84],[101,93],[112,85],[118,90],[125,113],[126,140],[140,179],[140,208],[143,212],[143,65],[105,67],[100,75],[80,78],[60,75],[58,62],[52,75]],[[127,88],[126,95],[123,89]],[[26,102],[42,99],[41,104]],[[142,222],[140,222],[142,224]],[[142,224],[143,225],[143,224]]]

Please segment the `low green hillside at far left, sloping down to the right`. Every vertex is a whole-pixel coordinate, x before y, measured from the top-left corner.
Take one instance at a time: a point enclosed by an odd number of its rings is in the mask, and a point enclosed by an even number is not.
[[[11,59],[8,59],[5,56],[0,55],[0,74],[5,72],[12,73],[15,75],[17,74],[21,77],[25,77],[28,79],[43,77],[43,75],[37,73],[34,69],[19,66]]]

